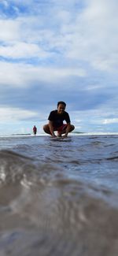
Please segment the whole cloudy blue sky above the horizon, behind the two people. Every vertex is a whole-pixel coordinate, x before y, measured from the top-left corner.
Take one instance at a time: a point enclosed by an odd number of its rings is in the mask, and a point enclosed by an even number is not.
[[[42,133],[57,102],[76,132],[118,132],[117,0],[0,0],[0,134]]]

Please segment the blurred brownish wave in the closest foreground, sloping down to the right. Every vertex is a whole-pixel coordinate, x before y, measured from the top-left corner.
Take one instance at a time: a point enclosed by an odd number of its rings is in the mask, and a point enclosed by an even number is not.
[[[106,199],[113,197],[56,163],[1,150],[0,255],[116,256],[118,208]]]

